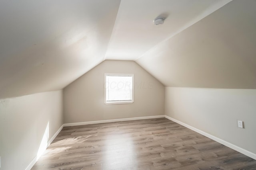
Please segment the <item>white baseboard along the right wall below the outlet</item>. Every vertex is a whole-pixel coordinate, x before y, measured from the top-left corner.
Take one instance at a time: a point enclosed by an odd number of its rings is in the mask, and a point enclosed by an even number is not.
[[[181,121],[178,121],[178,120],[176,120],[176,119],[174,119],[174,118],[172,118],[172,117],[169,117],[169,116],[167,116],[167,115],[165,115],[165,118],[167,118],[167,119],[169,119],[169,120],[171,120],[171,121],[174,121],[174,122],[176,122],[176,123],[178,123],[178,124],[180,124],[180,125],[182,125],[182,126],[184,126],[184,127],[187,127],[188,129],[191,129],[192,131],[195,131],[195,132],[197,132],[197,133],[200,133],[201,135],[204,135],[204,136],[206,136],[206,137],[208,137],[208,138],[210,138],[210,139],[212,139],[212,140],[214,140],[214,141],[216,141],[216,142],[218,142],[218,143],[221,143],[222,145],[225,145],[225,146],[227,146],[227,147],[229,147],[229,148],[231,148],[231,149],[234,149],[234,150],[236,150],[236,151],[238,151],[238,152],[240,152],[240,153],[242,153],[242,154],[245,154],[246,156],[249,156],[250,158],[253,158],[253,159],[256,160],[256,154],[254,154],[254,153],[252,153],[252,152],[250,152],[250,151],[248,151],[248,150],[242,149],[242,148],[240,148],[240,147],[238,147],[238,146],[236,146],[236,145],[234,145],[234,144],[232,144],[232,143],[229,143],[229,142],[224,141],[224,140],[222,140],[222,139],[220,139],[220,138],[218,138],[218,137],[215,137],[215,136],[213,136],[213,135],[210,135],[209,133],[206,133],[206,132],[204,132],[204,131],[201,131],[201,130],[199,130],[199,129],[196,129],[195,127],[192,127],[192,126],[190,126],[190,125],[188,125],[188,124],[186,124],[186,123],[183,123],[183,122],[181,122]]]

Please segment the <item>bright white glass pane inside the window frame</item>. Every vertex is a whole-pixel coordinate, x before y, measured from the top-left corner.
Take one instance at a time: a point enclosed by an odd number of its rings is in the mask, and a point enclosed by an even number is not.
[[[106,76],[106,101],[131,101],[132,76]]]

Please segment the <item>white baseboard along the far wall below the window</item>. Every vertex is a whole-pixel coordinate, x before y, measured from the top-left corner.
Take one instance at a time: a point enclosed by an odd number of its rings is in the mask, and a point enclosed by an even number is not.
[[[156,118],[163,118],[163,117],[164,115],[157,115],[157,116],[145,116],[145,117],[132,117],[132,118],[124,118],[124,119],[110,119],[110,120],[100,120],[100,121],[85,121],[85,122],[78,122],[78,123],[65,123],[64,127],[78,126],[78,125],[91,125],[91,124],[98,124],[98,123],[110,123],[110,122],[118,122],[118,121],[156,119]]]

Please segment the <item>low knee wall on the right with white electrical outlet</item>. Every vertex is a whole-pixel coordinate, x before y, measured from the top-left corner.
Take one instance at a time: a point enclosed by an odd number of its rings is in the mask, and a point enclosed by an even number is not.
[[[256,154],[254,89],[166,87],[165,114]]]

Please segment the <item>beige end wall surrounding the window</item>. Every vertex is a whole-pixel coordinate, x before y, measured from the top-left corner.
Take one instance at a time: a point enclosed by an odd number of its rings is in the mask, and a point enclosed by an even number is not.
[[[104,104],[104,73],[134,74],[134,103]],[[64,123],[164,115],[164,86],[134,61],[106,60],[64,88]]]

